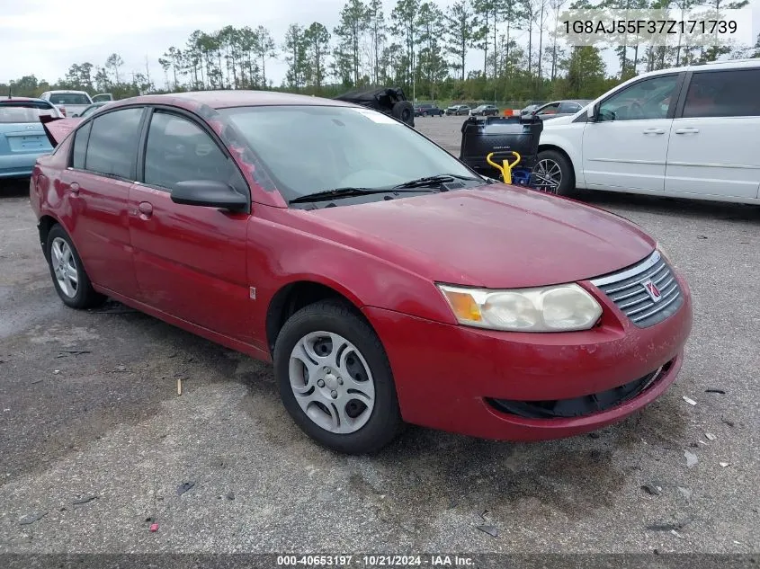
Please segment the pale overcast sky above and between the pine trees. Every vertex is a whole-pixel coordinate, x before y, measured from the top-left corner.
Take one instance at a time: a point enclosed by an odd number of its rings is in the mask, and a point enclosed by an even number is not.
[[[454,0],[437,0],[442,8]],[[395,0],[384,0],[386,15]],[[194,30],[214,31],[228,24],[236,27],[264,25],[282,44],[289,24],[322,22],[332,31],[344,0],[129,0],[111,9],[93,0],[0,0],[0,83],[24,75],[50,82],[66,75],[72,63],[89,61],[103,65],[113,52],[124,59],[122,73],[145,72],[163,86],[158,65],[170,46],[182,48]],[[752,37],[760,33],[760,0],[751,0]],[[524,33],[527,35],[527,33]],[[527,43],[526,39],[525,43]],[[9,54],[10,55],[9,57]],[[282,58],[282,56],[281,56]],[[482,51],[469,54],[469,67],[482,67]],[[615,71],[612,53],[605,56],[608,71]],[[280,84],[284,58],[267,64],[267,76]]]

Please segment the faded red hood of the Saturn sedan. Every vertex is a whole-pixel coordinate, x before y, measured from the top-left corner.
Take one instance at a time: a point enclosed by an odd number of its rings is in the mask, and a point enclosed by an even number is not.
[[[430,280],[493,289],[590,279],[655,247],[624,218],[502,183],[309,214],[333,239]]]

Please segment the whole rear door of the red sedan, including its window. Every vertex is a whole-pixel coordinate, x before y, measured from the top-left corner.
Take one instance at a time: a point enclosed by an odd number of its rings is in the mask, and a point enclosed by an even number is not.
[[[143,107],[106,112],[78,129],[60,191],[71,204],[69,227],[90,279],[136,298],[128,200],[135,179]]]

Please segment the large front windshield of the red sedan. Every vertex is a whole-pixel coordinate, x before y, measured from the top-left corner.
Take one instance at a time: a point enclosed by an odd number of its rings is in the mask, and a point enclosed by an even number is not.
[[[416,130],[364,108],[242,107],[220,111],[272,173],[286,200],[336,188],[391,188],[473,173]]]

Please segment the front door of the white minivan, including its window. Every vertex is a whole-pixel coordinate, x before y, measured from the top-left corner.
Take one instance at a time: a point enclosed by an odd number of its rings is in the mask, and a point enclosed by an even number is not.
[[[661,192],[678,74],[630,84],[604,100],[583,133],[583,172],[590,190]]]

